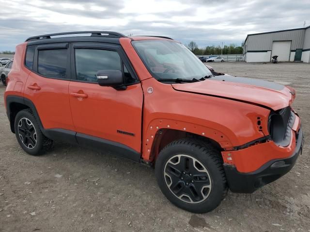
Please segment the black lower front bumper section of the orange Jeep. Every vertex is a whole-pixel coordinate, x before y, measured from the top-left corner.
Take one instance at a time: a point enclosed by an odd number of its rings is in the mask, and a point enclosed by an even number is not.
[[[303,132],[300,127],[296,135],[296,147],[292,156],[285,159],[270,160],[258,170],[250,173],[240,173],[236,167],[224,164],[224,170],[229,188],[232,192],[252,193],[288,173],[294,166],[297,157],[302,153]]]

